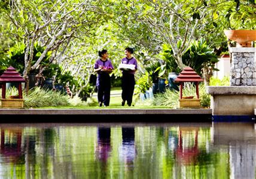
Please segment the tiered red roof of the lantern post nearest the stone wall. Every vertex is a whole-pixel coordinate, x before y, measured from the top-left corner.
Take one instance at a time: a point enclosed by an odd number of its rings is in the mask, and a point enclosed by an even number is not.
[[[184,70],[177,76],[175,82],[200,82],[203,79],[197,75],[197,73],[191,69],[191,67],[185,67]]]

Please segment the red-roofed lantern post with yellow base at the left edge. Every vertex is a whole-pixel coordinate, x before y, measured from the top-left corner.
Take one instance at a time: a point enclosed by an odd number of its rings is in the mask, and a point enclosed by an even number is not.
[[[22,97],[22,82],[25,82],[25,79],[16,72],[14,67],[10,66],[0,76],[0,82],[2,83],[2,108],[23,108],[24,100]],[[19,95],[11,96],[11,98],[5,98],[7,82],[17,82],[19,84]]]

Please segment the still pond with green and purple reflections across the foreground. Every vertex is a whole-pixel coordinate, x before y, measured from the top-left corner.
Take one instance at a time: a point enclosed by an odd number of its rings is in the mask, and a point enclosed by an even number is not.
[[[253,123],[0,128],[0,178],[255,178]]]

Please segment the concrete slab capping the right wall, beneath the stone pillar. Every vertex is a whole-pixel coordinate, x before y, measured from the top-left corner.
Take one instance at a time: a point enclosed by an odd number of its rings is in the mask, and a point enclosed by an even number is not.
[[[256,94],[256,86],[228,86],[228,87],[206,87],[206,92],[211,95],[230,94]]]

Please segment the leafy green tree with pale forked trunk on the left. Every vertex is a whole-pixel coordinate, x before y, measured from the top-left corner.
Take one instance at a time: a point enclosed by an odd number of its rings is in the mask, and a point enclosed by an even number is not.
[[[5,18],[12,22],[11,33],[17,41],[25,41],[26,44],[23,77],[27,84],[28,73],[39,67],[48,51],[56,52],[52,60],[58,51],[65,53],[76,32],[89,30],[99,22],[102,14],[99,1],[12,1],[11,4],[6,2],[5,7]],[[32,63],[35,42],[45,46],[45,50]]]

